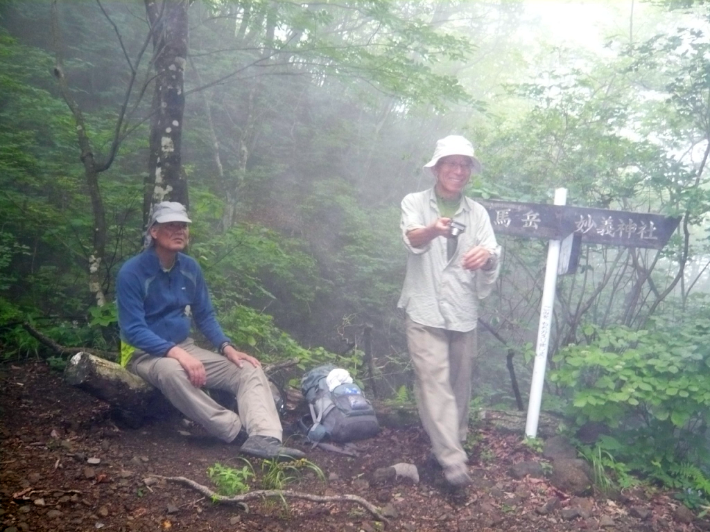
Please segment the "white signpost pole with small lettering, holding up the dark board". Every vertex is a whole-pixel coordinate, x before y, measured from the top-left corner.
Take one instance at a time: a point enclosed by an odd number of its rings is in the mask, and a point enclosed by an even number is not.
[[[567,189],[556,189],[555,205],[564,204],[567,204]],[[555,287],[557,285],[557,265],[559,263],[560,242],[560,240],[550,240],[550,247],[547,248],[545,286],[542,287],[542,305],[540,306],[540,324],[537,327],[535,365],[532,367],[530,400],[528,401],[528,419],[525,422],[525,436],[528,438],[537,437],[537,421],[540,419],[542,387],[545,384],[545,367],[547,366],[547,348],[548,345],[550,345],[552,306],[555,304]]]

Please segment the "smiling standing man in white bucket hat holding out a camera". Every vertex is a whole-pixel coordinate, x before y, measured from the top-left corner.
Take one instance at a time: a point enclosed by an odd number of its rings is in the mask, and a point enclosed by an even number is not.
[[[434,188],[408,194],[400,227],[409,254],[398,307],[415,370],[415,395],[432,452],[454,488],[471,483],[463,445],[469,424],[478,300],[498,277],[500,247],[488,212],[464,196],[480,172],[464,137],[437,141],[425,169]]]

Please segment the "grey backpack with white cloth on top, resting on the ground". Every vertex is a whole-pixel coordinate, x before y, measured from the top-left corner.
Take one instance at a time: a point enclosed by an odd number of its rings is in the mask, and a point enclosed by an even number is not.
[[[310,409],[310,420],[308,416],[301,420],[307,439],[346,443],[375,436],[380,425],[360,387],[349,383],[328,389],[326,377],[334,369],[332,364],[317,366],[301,379],[301,392]]]

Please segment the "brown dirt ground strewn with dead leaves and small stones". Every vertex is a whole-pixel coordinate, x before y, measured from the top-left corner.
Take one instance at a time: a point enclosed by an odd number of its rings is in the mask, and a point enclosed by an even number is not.
[[[510,466],[540,457],[519,436],[488,426],[471,428],[474,485],[461,494],[445,489],[428,460],[418,426],[383,428],[358,443],[357,458],[293,444],[324,473],[302,470],[287,488],[320,496],[353,494],[375,506],[386,522],[352,501],[286,497],[215,504],[192,487],[148,481],[151,475],[187,477],[209,489],[207,468],[240,468],[236,445],[204,436],[178,419],[119,428],[107,406],[65,384],[41,362],[0,366],[0,523],[4,531],[694,531],[706,520],[681,523],[669,494],[637,490],[623,500],[589,497],[582,516],[564,509],[580,504],[545,479],[514,480]],[[285,426],[293,420],[285,419]],[[420,482],[405,477],[376,482],[374,472],[398,463],[417,467]],[[261,462],[251,460],[261,489]],[[151,483],[155,482],[155,483]],[[552,511],[543,511],[557,500]],[[549,505],[548,505],[549,506]],[[647,511],[638,513],[633,508]]]

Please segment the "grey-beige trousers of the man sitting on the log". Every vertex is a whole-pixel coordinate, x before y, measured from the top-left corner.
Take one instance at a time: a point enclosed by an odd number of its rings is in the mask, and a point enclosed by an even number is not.
[[[197,347],[192,338],[179,345],[204,365],[206,388],[234,394],[238,413],[224,408],[202,389],[192,386],[187,372],[174,358],[155,357],[136,350],[128,369],[160,389],[182,414],[220,440],[234,440],[242,426],[249,436],[272,436],[281,440],[281,421],[268,379],[260,367],[245,361],[240,368],[222,355]]]

